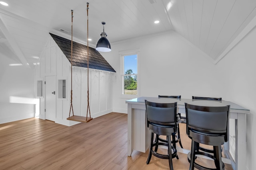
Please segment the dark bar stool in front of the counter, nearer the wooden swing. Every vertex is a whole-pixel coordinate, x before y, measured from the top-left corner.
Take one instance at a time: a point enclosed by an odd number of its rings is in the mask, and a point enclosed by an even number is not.
[[[168,159],[170,170],[173,170],[172,158],[177,156],[177,149],[175,143],[175,133],[177,132],[177,102],[175,103],[154,103],[145,100],[146,104],[146,117],[147,127],[151,131],[150,150],[148,153],[148,160],[146,164],[149,164],[152,154],[158,158]],[[154,134],[167,136],[166,142],[154,142]],[[172,138],[171,138],[172,136]],[[173,142],[173,146],[172,146]],[[160,154],[157,149],[153,150],[153,147],[158,145],[164,145],[168,147],[168,154]],[[173,153],[172,153],[173,150]]]

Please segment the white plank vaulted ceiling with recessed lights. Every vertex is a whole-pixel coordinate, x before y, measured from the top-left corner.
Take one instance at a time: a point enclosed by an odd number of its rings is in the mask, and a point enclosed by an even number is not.
[[[95,47],[102,21],[110,43],[176,31],[213,62],[220,60],[255,26],[256,0],[2,0],[0,54],[32,66],[46,44],[48,33],[87,39],[86,2],[89,2],[89,41]],[[155,24],[154,21],[160,23]],[[253,22],[253,24],[251,24]],[[247,32],[243,31],[247,28]],[[64,29],[66,31],[59,31]],[[236,43],[234,43],[236,42]]]

